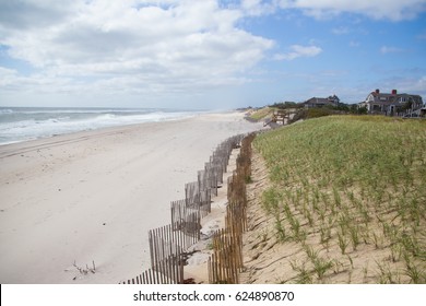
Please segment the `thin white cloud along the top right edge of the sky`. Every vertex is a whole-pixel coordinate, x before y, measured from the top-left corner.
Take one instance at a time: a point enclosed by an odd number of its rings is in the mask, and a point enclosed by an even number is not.
[[[301,9],[317,19],[340,13],[364,14],[376,20],[410,20],[426,11],[425,0],[281,0],[282,9]]]

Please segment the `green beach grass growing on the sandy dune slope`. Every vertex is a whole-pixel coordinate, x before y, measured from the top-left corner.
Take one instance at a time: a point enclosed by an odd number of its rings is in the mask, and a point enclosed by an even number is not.
[[[347,282],[358,273],[426,283],[425,120],[329,116],[253,144],[269,168],[262,203],[279,240],[306,250],[292,263],[294,282],[333,282],[344,271]]]

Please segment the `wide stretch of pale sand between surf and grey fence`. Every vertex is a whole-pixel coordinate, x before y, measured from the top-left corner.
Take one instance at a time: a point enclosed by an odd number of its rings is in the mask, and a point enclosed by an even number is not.
[[[150,267],[147,231],[170,222],[216,145],[261,126],[210,114],[0,146],[0,283],[135,276]]]

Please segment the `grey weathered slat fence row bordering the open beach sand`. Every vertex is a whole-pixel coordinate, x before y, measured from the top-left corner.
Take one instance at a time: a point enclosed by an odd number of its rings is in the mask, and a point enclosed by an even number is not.
[[[185,185],[185,199],[170,203],[171,223],[149,231],[151,268],[122,284],[185,282],[186,250],[200,239],[201,219],[211,212],[211,197],[217,196],[230,153],[240,145],[242,138],[232,137],[217,145],[204,169],[198,172],[198,180]],[[215,244],[225,245],[226,239],[227,236],[223,242],[216,237]]]

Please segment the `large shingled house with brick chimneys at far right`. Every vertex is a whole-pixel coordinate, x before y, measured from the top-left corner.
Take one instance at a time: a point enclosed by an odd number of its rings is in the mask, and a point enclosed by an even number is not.
[[[407,116],[419,113],[423,107],[422,96],[399,94],[397,90],[391,93],[371,92],[359,107],[366,107],[368,114],[387,116]]]

